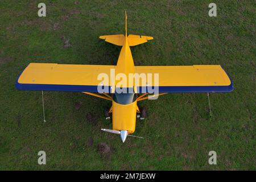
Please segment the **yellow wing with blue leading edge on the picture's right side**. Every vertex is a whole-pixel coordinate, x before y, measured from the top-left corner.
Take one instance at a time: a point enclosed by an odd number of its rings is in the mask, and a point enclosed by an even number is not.
[[[147,86],[159,87],[159,92],[231,92],[233,82],[220,65],[137,66],[135,73],[152,73],[152,82],[140,82],[139,93]],[[158,73],[159,81],[154,80]],[[147,92],[147,91],[144,91]]]

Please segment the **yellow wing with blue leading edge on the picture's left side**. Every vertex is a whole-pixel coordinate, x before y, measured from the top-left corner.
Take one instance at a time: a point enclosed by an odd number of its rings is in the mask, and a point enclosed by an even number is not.
[[[114,65],[72,65],[30,63],[16,82],[19,90],[97,92],[98,85],[110,89],[110,69]],[[104,73],[108,80],[98,75]]]

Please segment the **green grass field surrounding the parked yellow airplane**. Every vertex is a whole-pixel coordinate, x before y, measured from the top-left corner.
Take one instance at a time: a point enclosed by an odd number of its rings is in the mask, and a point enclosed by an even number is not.
[[[0,2],[0,169],[245,170],[256,169],[255,1],[42,1]],[[131,48],[135,65],[221,64],[231,93],[173,93],[145,100],[148,118],[123,144],[105,121],[101,98],[72,92],[18,91],[30,62],[115,64],[120,47],[98,36],[124,31],[154,36]],[[80,108],[79,108],[80,107]],[[99,143],[110,147],[101,156]],[[38,165],[46,151],[47,164]],[[217,165],[208,152],[217,152]]]

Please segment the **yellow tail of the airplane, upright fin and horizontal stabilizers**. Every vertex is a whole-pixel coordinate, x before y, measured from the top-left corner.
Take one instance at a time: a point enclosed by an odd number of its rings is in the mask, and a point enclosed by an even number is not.
[[[137,46],[139,44],[146,43],[148,40],[154,39],[152,36],[132,35],[127,36],[127,14],[125,10],[125,35],[101,35],[100,39],[104,39],[106,42],[112,43],[117,46],[123,46],[125,38],[128,39],[129,46]]]

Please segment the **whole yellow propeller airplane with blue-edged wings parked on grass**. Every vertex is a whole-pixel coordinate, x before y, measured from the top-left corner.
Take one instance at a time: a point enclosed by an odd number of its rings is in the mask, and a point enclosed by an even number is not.
[[[146,117],[146,111],[138,107],[138,101],[154,99],[166,93],[233,90],[233,82],[221,65],[135,66],[130,46],[146,43],[153,37],[127,35],[126,12],[125,35],[102,35],[100,39],[122,46],[117,65],[30,63],[18,77],[16,88],[82,92],[112,101],[112,107],[105,111],[105,117],[109,119],[112,113],[113,129],[102,130],[119,134],[122,142],[127,136],[136,137],[131,135],[135,131],[136,118]],[[143,74],[151,77],[145,78]],[[130,75],[135,76],[131,77],[129,85],[127,81],[119,83],[121,77]],[[152,78],[152,75],[157,76]],[[121,92],[117,92],[118,89]]]

